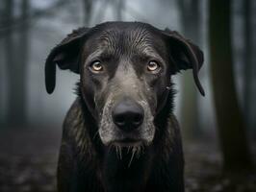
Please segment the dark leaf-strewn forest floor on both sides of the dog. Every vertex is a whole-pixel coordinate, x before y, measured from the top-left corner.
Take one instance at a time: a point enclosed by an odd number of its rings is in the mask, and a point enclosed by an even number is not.
[[[60,139],[58,129],[2,130],[0,192],[56,191]],[[216,143],[201,140],[185,143],[184,148],[186,192],[256,192],[255,172],[233,175],[221,172]]]

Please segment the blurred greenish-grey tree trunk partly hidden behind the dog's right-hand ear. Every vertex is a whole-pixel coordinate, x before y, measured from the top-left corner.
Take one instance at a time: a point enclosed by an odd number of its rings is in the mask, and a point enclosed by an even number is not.
[[[200,1],[177,0],[180,9],[180,18],[183,35],[200,44]],[[197,89],[192,81],[192,73],[186,72],[182,76],[181,86],[181,125],[186,139],[192,139],[199,134],[199,111],[197,102]]]

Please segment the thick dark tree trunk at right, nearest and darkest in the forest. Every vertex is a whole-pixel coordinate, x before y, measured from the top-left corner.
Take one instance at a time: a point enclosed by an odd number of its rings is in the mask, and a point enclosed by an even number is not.
[[[235,90],[230,0],[210,0],[210,53],[218,134],[227,171],[251,167],[241,108]]]

